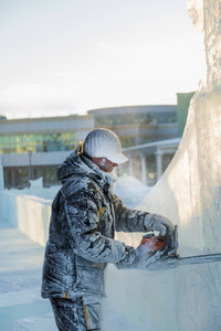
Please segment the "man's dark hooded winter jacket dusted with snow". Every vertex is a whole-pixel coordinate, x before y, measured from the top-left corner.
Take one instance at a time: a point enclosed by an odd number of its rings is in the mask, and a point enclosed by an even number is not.
[[[112,175],[72,152],[57,171],[62,188],[52,203],[42,297],[102,296],[107,263],[130,265],[135,248],[115,231],[145,232],[148,213],[129,210],[112,192]]]

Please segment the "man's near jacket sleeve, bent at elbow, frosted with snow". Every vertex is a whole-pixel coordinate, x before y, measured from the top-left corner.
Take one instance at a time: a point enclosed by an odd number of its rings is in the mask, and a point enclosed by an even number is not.
[[[77,193],[77,194],[76,194]],[[98,231],[98,209],[96,192],[80,190],[65,196],[65,214],[69,231],[67,241],[74,253],[94,263],[131,264],[136,259],[135,249],[124,243],[107,238]]]

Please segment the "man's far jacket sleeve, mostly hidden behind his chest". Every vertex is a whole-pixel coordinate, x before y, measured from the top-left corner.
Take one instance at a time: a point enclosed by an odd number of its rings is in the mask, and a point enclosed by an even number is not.
[[[115,194],[112,195],[112,201],[115,211],[116,231],[147,232],[154,229],[152,223],[157,216],[156,214],[130,210]]]

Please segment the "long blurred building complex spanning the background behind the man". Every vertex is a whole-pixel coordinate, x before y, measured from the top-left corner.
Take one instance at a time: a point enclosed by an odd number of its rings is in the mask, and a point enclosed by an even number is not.
[[[148,185],[157,182],[171,161],[178,138],[177,106],[128,106],[88,110],[85,116],[0,117],[0,151],[4,188],[22,189],[43,178],[57,183],[57,167],[95,127],[113,130],[129,162],[118,168]]]

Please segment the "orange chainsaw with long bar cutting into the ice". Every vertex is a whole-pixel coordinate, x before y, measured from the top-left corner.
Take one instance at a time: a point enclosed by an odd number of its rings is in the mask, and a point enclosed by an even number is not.
[[[149,248],[148,257],[157,253],[158,250],[164,249],[166,245],[166,237],[155,236],[154,234],[147,234],[141,239],[141,245],[146,245]],[[177,253],[173,253],[169,256],[162,254],[162,256],[152,261],[149,266],[149,270],[159,270],[167,269],[183,265],[194,265],[194,264],[206,264],[221,261],[221,253],[215,254],[204,254],[196,256],[180,257]]]

